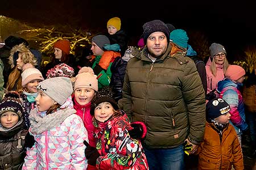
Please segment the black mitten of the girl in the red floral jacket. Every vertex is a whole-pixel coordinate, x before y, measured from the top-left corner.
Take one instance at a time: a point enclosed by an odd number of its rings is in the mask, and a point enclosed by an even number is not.
[[[84,145],[86,146],[85,157],[88,159],[88,164],[95,166],[97,158],[101,155],[98,153],[98,150],[95,147],[90,146],[88,142],[84,141]]]

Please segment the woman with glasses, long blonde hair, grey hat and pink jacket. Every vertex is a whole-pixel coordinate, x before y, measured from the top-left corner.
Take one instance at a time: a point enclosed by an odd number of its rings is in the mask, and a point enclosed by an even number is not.
[[[221,44],[213,43],[210,45],[210,57],[205,66],[207,72],[207,94],[215,90],[219,80],[224,79],[229,63],[226,59],[226,50]]]

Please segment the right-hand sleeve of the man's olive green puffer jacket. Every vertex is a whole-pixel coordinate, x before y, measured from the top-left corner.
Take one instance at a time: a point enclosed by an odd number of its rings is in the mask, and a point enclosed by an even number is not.
[[[188,61],[183,74],[180,79],[183,99],[188,109],[190,127],[188,140],[199,145],[204,138],[205,92],[194,62]]]

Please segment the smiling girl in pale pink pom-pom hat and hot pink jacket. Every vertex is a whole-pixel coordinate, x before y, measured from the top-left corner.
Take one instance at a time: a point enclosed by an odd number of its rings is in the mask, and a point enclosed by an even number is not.
[[[77,111],[76,114],[82,118],[82,122],[84,122],[84,126],[88,131],[89,145],[96,147],[96,139],[93,137],[96,128],[92,123],[93,116],[90,114],[90,102],[98,91],[98,80],[97,75],[94,75],[90,67],[81,68],[76,76],[74,90],[72,96],[74,109]],[[96,169],[96,167],[88,164],[87,169],[92,170]]]

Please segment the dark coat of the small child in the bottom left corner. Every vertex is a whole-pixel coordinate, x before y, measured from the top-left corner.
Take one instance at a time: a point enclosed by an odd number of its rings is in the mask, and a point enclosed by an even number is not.
[[[19,124],[10,130],[0,128],[0,169],[22,169],[26,156],[25,137],[28,130]]]

